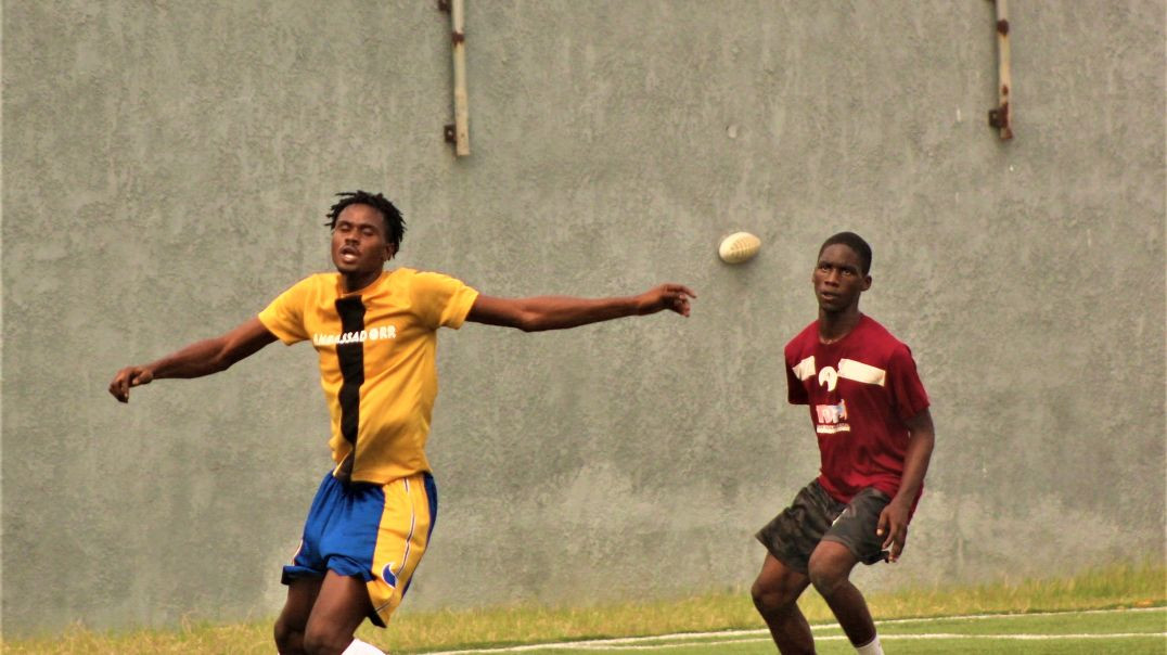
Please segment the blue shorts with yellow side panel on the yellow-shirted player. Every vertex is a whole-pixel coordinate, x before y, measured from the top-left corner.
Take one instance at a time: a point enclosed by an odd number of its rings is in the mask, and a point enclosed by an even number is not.
[[[438,487],[428,473],[387,485],[344,485],[324,475],[308,510],[303,538],[282,583],[323,578],[331,570],[366,583],[373,611],[385,627],[410,588],[438,518]]]

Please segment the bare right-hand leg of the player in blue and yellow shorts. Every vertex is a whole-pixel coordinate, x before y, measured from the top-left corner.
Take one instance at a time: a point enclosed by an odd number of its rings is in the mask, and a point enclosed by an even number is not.
[[[305,653],[340,655],[352,643],[352,634],[371,612],[364,580],[329,571],[303,632]]]

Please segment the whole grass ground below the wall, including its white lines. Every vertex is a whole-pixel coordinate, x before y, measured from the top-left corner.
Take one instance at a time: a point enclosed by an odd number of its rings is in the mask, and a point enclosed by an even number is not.
[[[1002,581],[871,594],[885,649],[923,653],[1167,653],[1167,567],[1116,565],[1067,579]],[[819,653],[853,653],[813,593],[803,611]],[[748,593],[587,608],[509,607],[403,613],[389,630],[358,636],[391,653],[775,653]],[[663,636],[664,635],[664,636]],[[100,633],[74,627],[37,639],[0,640],[12,655],[274,651],[271,623],[187,622],[172,630]]]

